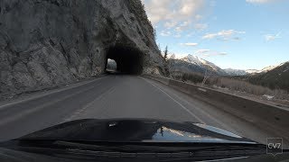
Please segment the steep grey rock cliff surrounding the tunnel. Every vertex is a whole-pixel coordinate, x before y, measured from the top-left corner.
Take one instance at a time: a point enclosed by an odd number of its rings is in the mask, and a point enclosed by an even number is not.
[[[103,74],[115,47],[142,56],[138,73],[162,70],[140,0],[1,0],[0,95]]]

